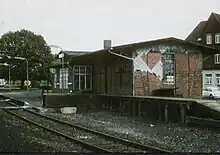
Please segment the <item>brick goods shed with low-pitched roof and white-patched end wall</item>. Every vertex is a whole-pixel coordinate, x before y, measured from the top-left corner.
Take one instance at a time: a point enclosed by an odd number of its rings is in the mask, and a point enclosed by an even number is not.
[[[197,98],[202,94],[202,53],[210,48],[166,38],[77,56],[70,65],[92,66],[92,93],[154,95],[155,90],[173,90],[171,96]]]

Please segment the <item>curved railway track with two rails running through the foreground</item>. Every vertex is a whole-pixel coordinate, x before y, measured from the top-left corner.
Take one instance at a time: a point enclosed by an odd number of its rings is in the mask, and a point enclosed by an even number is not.
[[[16,106],[8,101],[7,104]],[[94,131],[76,124],[62,121],[50,116],[46,116],[29,109],[11,110],[4,109],[6,112],[54,134],[72,140],[94,152],[147,152],[147,153],[172,153],[167,150],[142,145],[121,138],[117,138],[105,133]]]

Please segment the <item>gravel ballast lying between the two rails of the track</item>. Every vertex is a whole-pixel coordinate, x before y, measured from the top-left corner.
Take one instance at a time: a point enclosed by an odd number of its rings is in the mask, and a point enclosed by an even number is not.
[[[32,120],[36,123],[39,123],[43,126],[46,126],[50,129],[56,130],[68,136],[71,136],[77,140],[86,142],[88,144],[92,144],[97,147],[101,147],[103,149],[107,149],[109,151],[117,151],[117,152],[143,152],[145,149],[138,149],[135,147],[129,147],[125,144],[120,142],[115,142],[114,140],[110,140],[98,134],[94,134],[88,131],[84,131],[82,129],[78,129],[69,125],[61,124],[59,122],[46,119],[44,117],[40,117],[33,113],[24,110],[16,110],[14,112],[19,116],[25,117],[29,120]]]

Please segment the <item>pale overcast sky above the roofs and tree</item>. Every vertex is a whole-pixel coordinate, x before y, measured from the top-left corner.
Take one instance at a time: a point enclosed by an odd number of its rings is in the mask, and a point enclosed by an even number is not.
[[[48,44],[97,50],[164,37],[185,39],[220,0],[0,0],[0,35],[22,28]]]

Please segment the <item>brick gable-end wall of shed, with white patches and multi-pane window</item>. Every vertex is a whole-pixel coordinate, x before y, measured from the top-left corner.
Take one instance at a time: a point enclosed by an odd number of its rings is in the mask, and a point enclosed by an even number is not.
[[[199,77],[202,64],[193,66],[194,63],[191,60],[192,58],[200,59],[201,52],[198,49],[170,44],[137,49],[133,54],[135,95],[152,95],[153,90],[175,88],[184,97],[190,94],[198,96],[200,94],[198,84],[195,88],[188,88],[189,83],[192,83],[190,79],[193,77],[191,78],[192,73],[190,74],[192,71],[188,71],[188,59],[185,59],[187,53],[191,53],[189,67],[191,70],[194,68],[194,72],[196,72],[194,75]],[[195,68],[198,71],[195,71]],[[169,69],[173,70],[173,73]],[[196,80],[199,83],[200,79]]]

